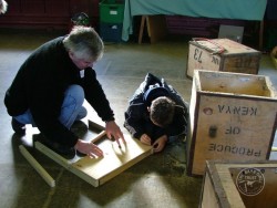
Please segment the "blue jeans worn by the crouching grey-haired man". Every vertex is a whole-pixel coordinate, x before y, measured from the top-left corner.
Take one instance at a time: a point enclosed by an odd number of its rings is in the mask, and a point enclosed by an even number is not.
[[[64,92],[64,100],[61,107],[60,122],[66,127],[71,128],[75,121],[84,118],[88,114],[84,102],[84,91],[80,85],[70,85]],[[24,114],[14,116],[14,118],[21,124],[32,124],[37,127],[30,110]]]

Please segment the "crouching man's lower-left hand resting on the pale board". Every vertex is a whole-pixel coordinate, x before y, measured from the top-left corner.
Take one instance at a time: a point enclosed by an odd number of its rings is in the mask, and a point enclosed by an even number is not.
[[[103,157],[103,150],[90,142],[78,139],[78,143],[75,144],[74,148],[92,158]]]

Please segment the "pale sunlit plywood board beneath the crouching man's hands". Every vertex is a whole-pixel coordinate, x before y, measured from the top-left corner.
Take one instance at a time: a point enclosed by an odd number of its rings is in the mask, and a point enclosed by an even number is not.
[[[90,184],[102,185],[112,179],[123,170],[133,166],[152,154],[151,147],[124,135],[126,145],[119,148],[115,142],[105,139],[99,146],[104,150],[104,157],[91,159],[84,157],[72,164],[72,171]],[[96,185],[96,186],[98,186]]]

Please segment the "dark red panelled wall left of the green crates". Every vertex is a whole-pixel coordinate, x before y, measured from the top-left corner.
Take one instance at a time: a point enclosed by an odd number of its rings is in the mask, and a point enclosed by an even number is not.
[[[10,0],[0,28],[71,29],[74,13],[85,12],[98,24],[99,0]]]

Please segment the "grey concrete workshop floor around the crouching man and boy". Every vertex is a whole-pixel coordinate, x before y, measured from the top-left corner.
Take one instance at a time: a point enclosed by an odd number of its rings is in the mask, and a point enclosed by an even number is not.
[[[51,32],[0,32],[0,100],[19,66],[41,43],[57,37]],[[192,81],[186,79],[187,40],[168,39],[156,44],[106,43],[103,59],[95,64],[117,124],[122,127],[127,101],[147,72],[164,77],[186,101]],[[259,74],[270,76],[277,89],[277,70],[264,54]],[[51,83],[49,83],[51,84]],[[186,176],[185,143],[168,144],[161,154],[152,155],[115,178],[95,188],[59,166],[35,149],[30,153],[54,178],[51,188],[20,154],[19,145],[32,145],[38,129],[28,126],[22,138],[13,134],[10,116],[0,105],[0,207],[4,208],[196,208],[202,193],[202,178]],[[123,127],[122,131],[127,133]],[[270,159],[277,158],[273,153]]]

